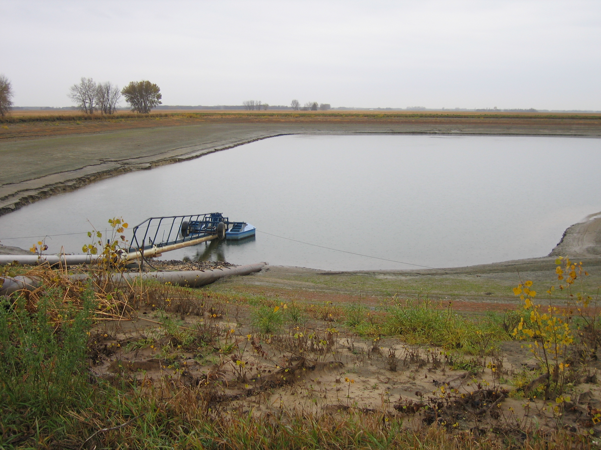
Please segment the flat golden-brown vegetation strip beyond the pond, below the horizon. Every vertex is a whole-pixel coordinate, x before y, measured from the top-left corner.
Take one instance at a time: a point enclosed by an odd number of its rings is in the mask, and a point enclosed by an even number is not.
[[[201,123],[231,124],[357,124],[357,125],[471,125],[475,127],[587,128],[598,132],[601,116],[589,113],[505,112],[382,112],[159,110],[150,114],[120,111],[114,115],[85,115],[77,110],[15,111],[0,118],[0,140],[65,134],[96,133],[130,128],[171,127]],[[591,128],[592,127],[592,128]],[[523,131],[522,131],[523,133]],[[561,134],[561,133],[560,133]]]

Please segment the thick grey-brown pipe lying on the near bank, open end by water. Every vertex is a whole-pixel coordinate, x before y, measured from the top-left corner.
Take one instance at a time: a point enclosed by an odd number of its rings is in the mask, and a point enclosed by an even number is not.
[[[200,287],[211,284],[219,278],[233,277],[234,275],[249,275],[252,272],[260,272],[267,263],[260,262],[237,267],[224,267],[222,269],[210,269],[206,271],[174,271],[174,272],[125,272],[113,274],[111,279],[114,283],[128,281],[130,284],[136,280],[156,280],[160,283],[177,284],[178,286]],[[87,274],[69,275],[71,281],[84,281]],[[41,280],[36,277],[0,277],[0,295],[9,295],[17,290],[34,290],[41,286]]]

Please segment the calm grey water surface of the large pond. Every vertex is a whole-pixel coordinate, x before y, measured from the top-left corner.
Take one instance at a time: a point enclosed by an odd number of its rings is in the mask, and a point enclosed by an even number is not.
[[[256,238],[162,259],[412,267],[272,235],[433,267],[545,256],[568,226],[601,211],[600,150],[601,140],[562,137],[275,137],[41,200],[0,217],[0,240],[28,248],[37,238],[7,238],[218,211],[252,223]],[[89,241],[46,242],[49,253],[81,253]]]

